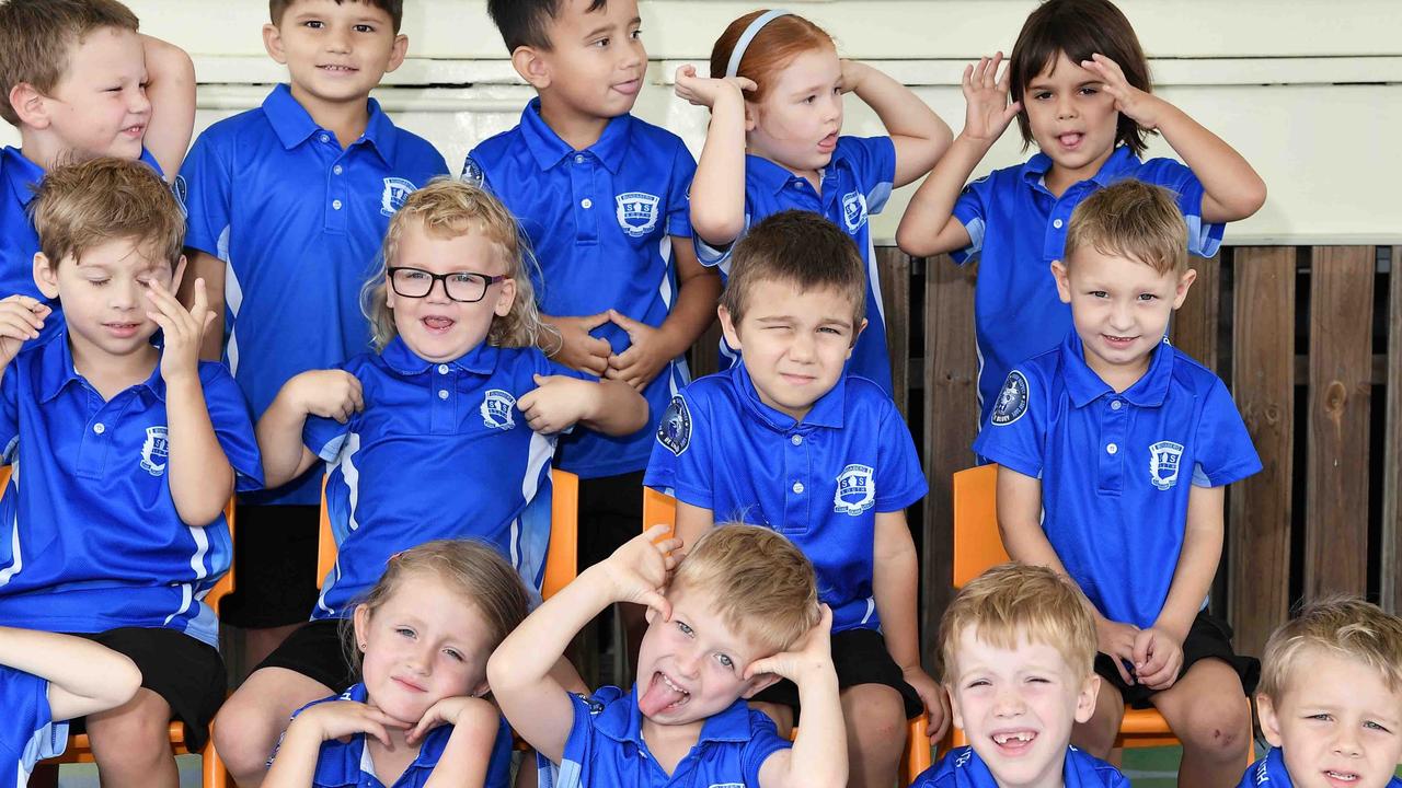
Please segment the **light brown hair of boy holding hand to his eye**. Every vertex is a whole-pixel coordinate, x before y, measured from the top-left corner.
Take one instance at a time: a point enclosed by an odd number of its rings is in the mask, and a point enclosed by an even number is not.
[[[160,175],[140,161],[100,157],[50,170],[31,205],[49,265],[116,238],[130,238],[174,268],[185,215]]]

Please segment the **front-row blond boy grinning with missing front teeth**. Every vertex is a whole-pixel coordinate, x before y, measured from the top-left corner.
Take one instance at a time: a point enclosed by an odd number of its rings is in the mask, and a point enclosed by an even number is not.
[[[970,746],[945,753],[911,788],[1129,788],[1071,742],[1101,687],[1095,621],[1066,578],[1004,564],[960,589],[939,625],[945,688]]]

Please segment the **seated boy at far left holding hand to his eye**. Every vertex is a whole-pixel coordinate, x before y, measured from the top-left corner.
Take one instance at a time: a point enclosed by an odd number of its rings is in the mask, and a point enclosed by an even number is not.
[[[224,700],[202,599],[229,571],[229,496],[262,482],[254,428],[224,367],[199,360],[205,286],[188,311],[175,300],[185,222],[150,167],[50,171],[34,226],[34,278],[67,320],[20,352],[49,310],[0,301],[0,446],[14,466],[0,624],[83,632],[129,656],[142,690],[87,718],[102,784],[174,787],[171,718],[198,750]]]

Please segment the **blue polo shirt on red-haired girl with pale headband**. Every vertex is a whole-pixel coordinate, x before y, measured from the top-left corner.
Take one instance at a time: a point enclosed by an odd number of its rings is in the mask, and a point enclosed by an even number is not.
[[[896,144],[890,137],[837,137],[833,160],[823,168],[817,193],[806,178],[760,156],[744,157],[744,229],[758,224],[781,210],[809,210],[822,215],[851,236],[866,264],[866,330],[857,338],[857,348],[847,362],[847,372],[875,381],[889,395],[890,356],[886,352],[886,307],[880,300],[880,276],[876,271],[876,247],[872,243],[871,215],[880,213],[890,199],[896,181]],[[742,234],[743,237],[743,234]],[[730,273],[730,251],[697,238],[697,257]],[[721,339],[722,366],[733,366],[739,353]]]

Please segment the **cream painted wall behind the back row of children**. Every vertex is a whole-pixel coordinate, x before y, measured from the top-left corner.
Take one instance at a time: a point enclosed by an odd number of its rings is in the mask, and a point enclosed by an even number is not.
[[[143,29],[191,52],[200,81],[198,129],[255,107],[283,72],[262,52],[259,0],[128,0]],[[510,69],[482,0],[407,0],[409,62],[377,97],[397,122],[430,139],[450,167],[481,139],[510,128],[531,91]],[[823,24],[844,56],[871,60],[914,87],[958,132],[959,76],[970,59],[1008,50],[1035,0],[788,0]],[[732,0],[642,0],[653,59],[638,115],[680,133],[700,153],[707,114],[672,95],[684,62],[704,63],[735,17]],[[1221,135],[1270,188],[1228,243],[1402,243],[1402,1],[1120,0],[1158,91]],[[435,87],[429,87],[435,86]],[[848,133],[879,133],[848,98]],[[13,143],[13,129],[0,142]],[[984,170],[1015,164],[1016,130]],[[1162,140],[1152,154],[1171,156]],[[908,188],[876,223],[894,234]]]

